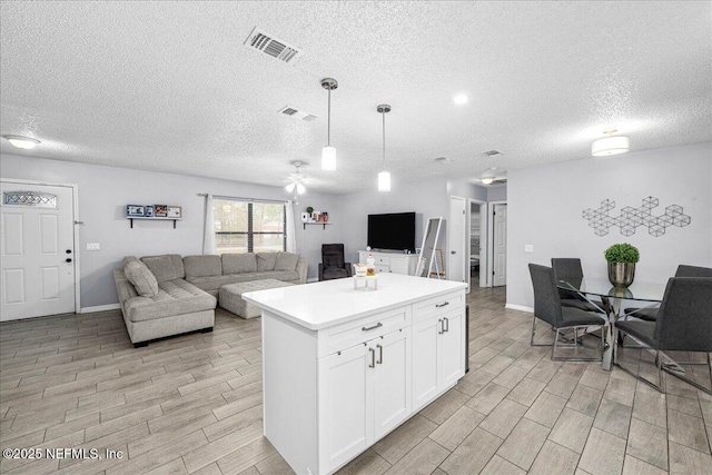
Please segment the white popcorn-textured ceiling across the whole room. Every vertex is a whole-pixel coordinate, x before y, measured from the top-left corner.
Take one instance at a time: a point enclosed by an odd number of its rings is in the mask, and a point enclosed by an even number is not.
[[[265,185],[303,160],[309,189],[344,192],[376,188],[384,102],[394,187],[592,159],[609,126],[632,151],[712,140],[709,1],[2,1],[1,17],[0,132],[42,141],[6,154]],[[255,27],[304,55],[249,50]]]

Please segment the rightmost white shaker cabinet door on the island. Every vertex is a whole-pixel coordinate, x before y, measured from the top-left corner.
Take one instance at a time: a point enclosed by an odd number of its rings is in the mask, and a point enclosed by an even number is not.
[[[443,334],[441,335],[441,387],[447,387],[457,382],[465,374],[464,339],[465,309],[443,314]]]

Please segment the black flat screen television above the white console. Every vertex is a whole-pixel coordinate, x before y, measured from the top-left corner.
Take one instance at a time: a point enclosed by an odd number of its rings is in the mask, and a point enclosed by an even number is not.
[[[368,241],[373,249],[415,253],[415,212],[368,215]]]

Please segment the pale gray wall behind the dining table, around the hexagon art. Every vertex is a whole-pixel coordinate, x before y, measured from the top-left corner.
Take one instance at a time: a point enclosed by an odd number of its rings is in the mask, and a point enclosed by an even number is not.
[[[712,267],[712,144],[511,170],[507,185],[507,305],[533,307],[528,263],[578,257],[584,276],[607,278],[603,251],[615,243],[640,249],[640,281],[665,283],[679,264]],[[620,216],[647,196],[660,200],[653,216],[680,205],[691,225],[669,227],[661,237],[643,226],[632,236],[613,227],[599,237],[582,217],[604,199],[615,201],[610,215]],[[525,244],[534,245],[533,254],[524,253]]]

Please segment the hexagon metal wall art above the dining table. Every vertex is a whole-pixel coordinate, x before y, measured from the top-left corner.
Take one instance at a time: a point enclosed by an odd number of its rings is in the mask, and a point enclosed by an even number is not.
[[[653,208],[660,205],[660,200],[654,196],[643,198],[643,202],[639,208],[626,206],[621,209],[621,214],[616,217],[610,216],[609,211],[615,208],[615,201],[604,199],[596,209],[586,208],[583,210],[582,217],[589,221],[589,227],[593,228],[596,236],[605,236],[610,229],[617,226],[623,236],[632,236],[640,226],[645,226],[651,236],[660,237],[665,234],[665,229],[670,226],[683,228],[689,226],[692,218],[684,214],[684,209],[680,205],[670,205],[665,208],[665,212],[660,216],[653,216]]]

